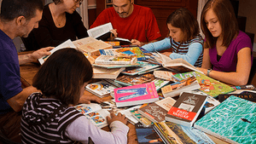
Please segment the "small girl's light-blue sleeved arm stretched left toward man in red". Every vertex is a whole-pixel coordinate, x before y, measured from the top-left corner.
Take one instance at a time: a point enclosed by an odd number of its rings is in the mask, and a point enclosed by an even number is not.
[[[170,49],[172,47],[170,38],[166,37],[165,39],[162,39],[158,42],[154,43],[148,43],[143,45],[143,49],[148,50],[149,52],[154,52],[154,51],[160,51],[164,49]]]

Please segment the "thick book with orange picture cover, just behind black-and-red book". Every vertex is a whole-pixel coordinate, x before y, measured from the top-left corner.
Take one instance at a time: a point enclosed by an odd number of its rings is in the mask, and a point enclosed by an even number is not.
[[[180,95],[183,91],[194,89],[200,89],[200,85],[197,83],[195,77],[189,77],[161,88],[165,97],[174,97]]]

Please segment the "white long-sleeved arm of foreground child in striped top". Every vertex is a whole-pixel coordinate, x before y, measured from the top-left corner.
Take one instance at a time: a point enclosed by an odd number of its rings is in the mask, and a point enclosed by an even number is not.
[[[111,131],[105,131],[97,128],[90,120],[85,117],[79,117],[69,124],[66,129],[66,135],[73,141],[88,142],[88,137],[97,143],[127,143],[127,133],[129,127],[120,121],[113,121],[109,125]]]

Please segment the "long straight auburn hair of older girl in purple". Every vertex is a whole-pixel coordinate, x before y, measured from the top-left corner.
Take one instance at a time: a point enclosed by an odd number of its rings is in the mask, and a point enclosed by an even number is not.
[[[239,32],[236,15],[230,0],[209,0],[204,6],[201,13],[201,30],[206,36],[205,48],[212,48],[217,38],[213,37],[211,32],[207,28],[205,16],[207,11],[212,9],[217,15],[219,24],[222,28],[223,43],[222,45],[228,47]]]

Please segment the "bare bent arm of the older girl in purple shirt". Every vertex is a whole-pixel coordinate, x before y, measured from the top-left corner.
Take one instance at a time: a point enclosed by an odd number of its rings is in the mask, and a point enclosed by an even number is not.
[[[247,84],[251,72],[251,66],[251,49],[243,48],[237,53],[236,72],[212,71],[209,73],[209,76],[227,84],[245,85]],[[200,68],[200,70],[207,74],[207,68],[207,66],[204,66],[204,68]]]

